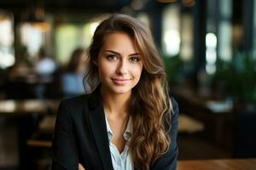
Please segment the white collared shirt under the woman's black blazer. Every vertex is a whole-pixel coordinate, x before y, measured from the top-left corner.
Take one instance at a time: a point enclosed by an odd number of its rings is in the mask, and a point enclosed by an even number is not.
[[[113,133],[108,124],[107,117],[106,124],[107,124],[107,131],[108,131],[108,142],[109,142],[109,150],[111,154],[112,164],[114,170],[133,170],[133,162],[131,158],[131,151],[130,151],[130,140],[131,140],[131,116],[129,118],[129,122],[125,129],[124,138],[126,140],[125,149],[122,153],[119,153],[117,147],[112,143]]]

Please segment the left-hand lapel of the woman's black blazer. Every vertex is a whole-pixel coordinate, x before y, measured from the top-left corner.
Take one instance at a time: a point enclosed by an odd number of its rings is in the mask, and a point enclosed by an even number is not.
[[[101,88],[101,85],[99,85],[96,88],[96,90],[92,94],[90,94],[90,98],[89,98],[90,126],[96,142],[97,151],[102,161],[103,169],[113,170],[100,88]]]

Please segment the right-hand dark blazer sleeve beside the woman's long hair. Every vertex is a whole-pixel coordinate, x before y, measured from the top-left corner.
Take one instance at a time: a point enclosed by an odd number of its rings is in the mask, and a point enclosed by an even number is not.
[[[177,169],[177,116],[178,116],[178,105],[175,99],[172,98],[172,120],[171,120],[171,130],[170,138],[171,144],[169,150],[164,156],[161,156],[157,161],[154,162],[153,166],[150,168],[152,170],[176,170]]]

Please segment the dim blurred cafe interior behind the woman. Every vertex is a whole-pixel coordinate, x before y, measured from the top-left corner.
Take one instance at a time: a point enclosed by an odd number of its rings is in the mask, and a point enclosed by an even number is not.
[[[86,49],[113,13],[152,31],[179,105],[178,162],[255,158],[256,1],[1,0],[0,169],[50,169],[58,105],[85,93]]]

